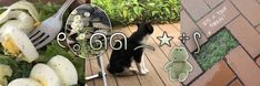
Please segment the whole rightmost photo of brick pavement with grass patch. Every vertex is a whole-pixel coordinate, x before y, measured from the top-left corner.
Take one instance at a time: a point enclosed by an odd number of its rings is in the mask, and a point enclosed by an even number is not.
[[[181,0],[184,86],[260,85],[260,0]]]

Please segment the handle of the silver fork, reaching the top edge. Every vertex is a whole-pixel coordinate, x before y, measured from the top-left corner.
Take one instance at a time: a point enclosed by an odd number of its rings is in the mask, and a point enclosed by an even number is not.
[[[56,18],[62,20],[62,17],[66,12],[66,10],[70,7],[71,3],[73,3],[74,0],[66,0],[66,2],[62,4],[62,7],[59,9],[59,11],[56,13]]]

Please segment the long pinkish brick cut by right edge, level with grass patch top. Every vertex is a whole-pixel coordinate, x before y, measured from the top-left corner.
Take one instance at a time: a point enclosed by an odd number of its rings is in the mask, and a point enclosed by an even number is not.
[[[238,17],[227,28],[253,58],[260,53],[260,34],[243,17]]]

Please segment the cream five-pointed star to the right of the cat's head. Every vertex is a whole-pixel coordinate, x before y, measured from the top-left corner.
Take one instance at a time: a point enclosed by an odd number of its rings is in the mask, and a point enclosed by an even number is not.
[[[160,40],[160,46],[168,45],[171,46],[170,41],[173,39],[172,36],[169,36],[167,32],[164,31],[162,36],[157,36],[158,40]]]

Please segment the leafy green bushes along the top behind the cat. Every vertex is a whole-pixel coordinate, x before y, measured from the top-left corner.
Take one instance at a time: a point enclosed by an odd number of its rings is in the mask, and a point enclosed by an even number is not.
[[[103,9],[113,25],[137,21],[156,23],[180,20],[180,0],[92,0]]]

